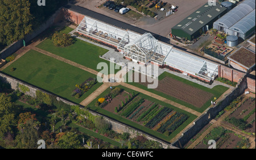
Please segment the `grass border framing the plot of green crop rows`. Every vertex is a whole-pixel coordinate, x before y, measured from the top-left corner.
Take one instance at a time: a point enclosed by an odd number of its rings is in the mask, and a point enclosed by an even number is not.
[[[126,87],[123,87],[123,86],[118,86],[120,87],[121,89],[127,91],[127,92],[133,92],[134,90],[131,90],[131,89],[128,89]],[[122,123],[124,124],[127,124],[127,125],[130,125],[132,126],[133,128],[137,128],[139,130],[143,130],[143,132],[146,132],[146,133],[149,133],[149,134],[152,134],[153,136],[156,136],[156,137],[159,137],[161,138],[162,140],[166,140],[166,141],[170,141],[172,138],[174,138],[179,132],[181,132],[181,130],[183,130],[185,127],[187,127],[188,124],[190,124],[193,120],[196,119],[197,116],[195,115],[192,115],[191,113],[189,112],[186,112],[186,111],[183,111],[183,110],[180,110],[179,108],[176,108],[174,106],[172,106],[171,104],[167,104],[167,103],[164,103],[158,99],[154,99],[154,98],[151,98],[150,96],[147,96],[147,95],[144,95],[142,94],[141,92],[137,92],[137,91],[134,91],[135,94],[138,94],[138,96],[144,98],[144,99],[147,99],[147,100],[150,100],[151,102],[155,102],[155,103],[158,103],[164,107],[169,107],[169,108],[172,108],[178,112],[181,112],[181,113],[185,113],[186,115],[188,115],[188,119],[180,125],[179,128],[177,128],[174,132],[172,132],[170,134],[170,136],[165,136],[164,134],[160,133],[160,132],[156,132],[150,128],[147,128],[147,127],[144,127],[143,125],[140,125],[140,124],[137,124],[131,120],[128,120],[128,119],[125,119],[124,117],[122,116],[119,116],[119,115],[116,115],[115,113],[112,113],[112,112],[109,112],[109,111],[106,111],[100,107],[96,107],[94,106],[94,104],[96,103],[96,101],[99,99],[99,98],[102,98],[104,97],[106,94],[108,94],[110,92],[110,89],[106,89],[104,92],[102,92],[101,95],[99,95],[96,99],[94,99],[89,105],[88,107],[94,111],[97,111],[99,113],[101,113],[102,115],[106,115],[106,116],[109,116],[109,117],[112,117],[113,119],[115,120],[118,120],[118,121],[121,121]]]

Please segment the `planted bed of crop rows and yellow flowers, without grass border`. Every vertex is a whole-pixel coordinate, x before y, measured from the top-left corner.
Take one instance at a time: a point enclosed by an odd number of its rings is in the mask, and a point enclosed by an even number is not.
[[[110,95],[108,94],[109,96],[111,96],[111,92]],[[98,102],[101,104],[106,103],[102,107],[104,110],[125,117],[157,132],[164,133],[166,136],[169,136],[188,119],[188,116],[184,113],[151,102],[134,93],[130,94],[121,91],[118,95],[111,96],[112,99],[109,101],[107,101],[108,98],[106,97],[104,98],[104,102],[100,102],[103,99],[98,99]]]

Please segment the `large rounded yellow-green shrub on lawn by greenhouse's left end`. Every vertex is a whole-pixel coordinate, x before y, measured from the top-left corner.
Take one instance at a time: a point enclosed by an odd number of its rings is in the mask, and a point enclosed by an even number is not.
[[[60,33],[57,31],[52,35],[52,40],[53,44],[57,47],[67,47],[68,45],[72,45],[75,42],[70,34]]]

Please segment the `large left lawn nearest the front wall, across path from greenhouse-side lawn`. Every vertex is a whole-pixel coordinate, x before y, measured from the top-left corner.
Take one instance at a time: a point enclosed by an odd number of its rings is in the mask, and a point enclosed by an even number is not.
[[[10,71],[12,67],[16,70]],[[90,77],[96,78],[96,75],[35,50],[24,54],[3,72],[76,103],[80,103],[102,85],[102,83],[96,83],[92,89],[76,99],[71,96],[76,84],[80,85]]]

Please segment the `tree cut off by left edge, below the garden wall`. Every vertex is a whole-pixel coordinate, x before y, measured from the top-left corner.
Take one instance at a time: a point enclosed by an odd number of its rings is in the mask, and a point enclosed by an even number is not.
[[[0,94],[0,138],[11,130],[15,124],[15,104],[11,102],[10,96]]]

